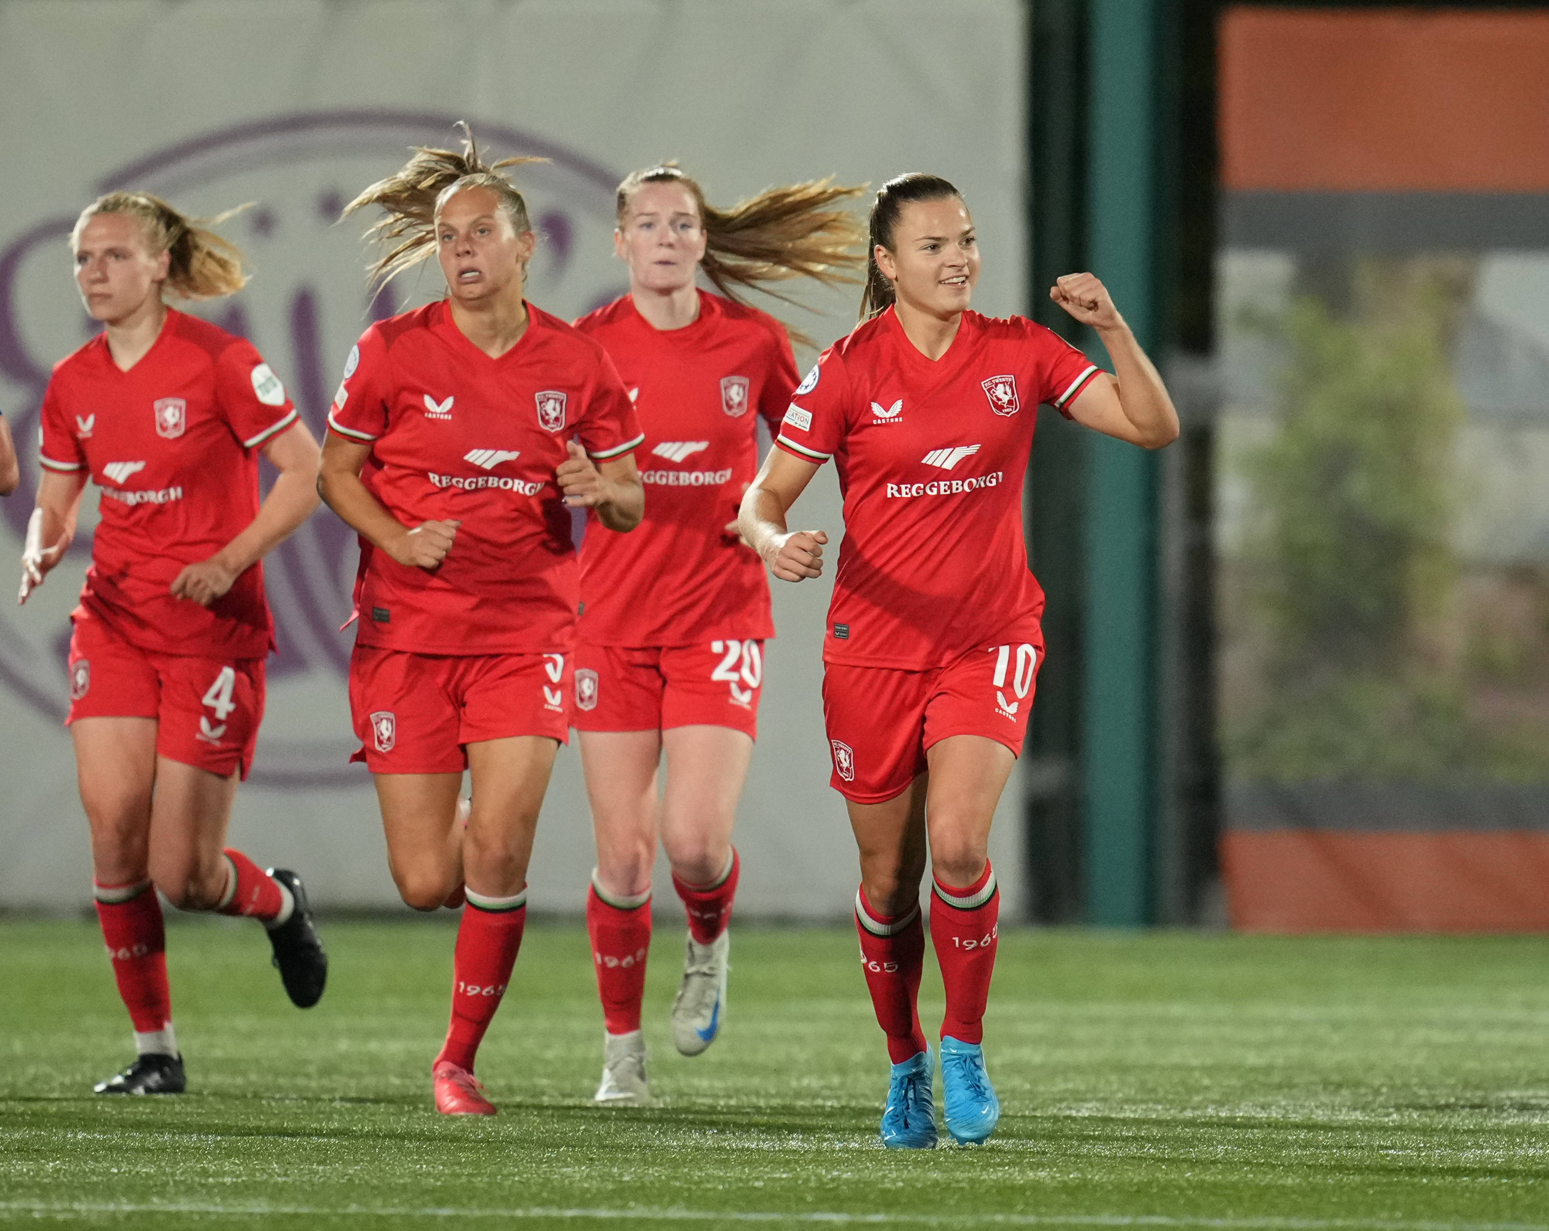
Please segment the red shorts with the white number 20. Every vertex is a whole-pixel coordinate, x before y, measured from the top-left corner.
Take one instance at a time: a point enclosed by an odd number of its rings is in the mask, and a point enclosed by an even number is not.
[[[570,722],[578,731],[730,726],[757,739],[762,689],[762,641],[578,646]]]

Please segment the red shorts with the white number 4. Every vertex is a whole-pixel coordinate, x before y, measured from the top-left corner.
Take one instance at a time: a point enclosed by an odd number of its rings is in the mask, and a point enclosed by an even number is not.
[[[155,718],[158,756],[246,777],[263,722],[263,660],[143,650],[77,616],[65,726],[79,718]]]

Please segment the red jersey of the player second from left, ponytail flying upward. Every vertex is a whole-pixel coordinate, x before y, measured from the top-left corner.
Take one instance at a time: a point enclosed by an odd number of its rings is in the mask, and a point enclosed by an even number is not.
[[[355,610],[362,646],[415,653],[565,653],[579,568],[555,471],[576,440],[627,454],[640,424],[612,359],[531,303],[499,359],[443,302],[372,325],[350,351],[328,426],[370,441],[362,478],[406,526],[459,520],[435,570],[361,539]]]

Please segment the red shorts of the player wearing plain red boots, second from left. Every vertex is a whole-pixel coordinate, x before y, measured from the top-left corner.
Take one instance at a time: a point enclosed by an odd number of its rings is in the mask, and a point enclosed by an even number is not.
[[[460,774],[466,746],[513,736],[570,739],[562,653],[409,653],[356,646],[350,715],[373,774]]]

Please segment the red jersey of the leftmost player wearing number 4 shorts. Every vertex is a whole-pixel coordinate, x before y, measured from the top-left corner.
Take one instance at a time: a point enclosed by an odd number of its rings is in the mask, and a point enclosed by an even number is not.
[[[259,513],[257,447],[296,421],[285,386],[251,342],[167,311],[161,334],[121,372],[98,334],[54,367],[40,461],[102,488],[81,607],[156,653],[263,658],[274,624],[254,564],[201,607],[173,578]]]

